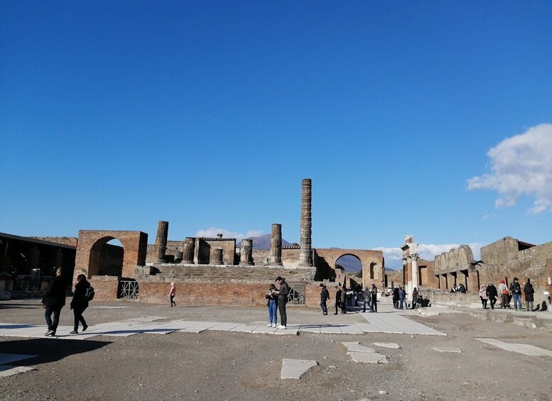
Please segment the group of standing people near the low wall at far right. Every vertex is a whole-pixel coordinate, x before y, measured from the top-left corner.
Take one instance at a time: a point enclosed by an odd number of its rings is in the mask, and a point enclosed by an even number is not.
[[[500,280],[500,284],[495,287],[492,282],[487,285],[482,285],[479,290],[480,300],[483,305],[483,309],[487,309],[487,302],[490,303],[491,309],[494,309],[494,304],[500,298],[500,307],[502,309],[512,309],[510,307],[510,301],[514,300],[514,310],[523,310],[521,304],[521,296],[525,297],[525,309],[527,312],[536,311],[540,309],[539,305],[536,309],[533,309],[535,290],[531,284],[531,279],[527,279],[523,289],[519,283],[518,278],[514,277],[512,284],[508,287],[505,280]],[[546,302],[543,303],[543,307],[546,307]]]

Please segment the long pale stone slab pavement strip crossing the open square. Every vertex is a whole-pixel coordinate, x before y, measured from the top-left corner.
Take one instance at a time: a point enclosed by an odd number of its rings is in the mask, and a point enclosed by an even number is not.
[[[360,308],[351,308],[357,309]],[[175,331],[201,333],[206,330],[238,331],[249,334],[298,335],[302,332],[317,334],[365,334],[365,333],[392,333],[392,334],[423,334],[445,336],[446,334],[431,329],[431,327],[413,322],[402,316],[408,311],[394,311],[390,305],[381,304],[381,312],[358,312],[367,323],[352,324],[288,324],[287,329],[266,327],[266,322],[251,322],[248,324],[229,322],[197,322],[184,319],[164,321],[163,316],[143,316],[126,319],[121,322],[109,322],[89,326],[87,331],[77,335],[69,334],[72,326],[58,326],[53,339],[90,339],[94,336],[132,336],[134,334],[170,334]],[[356,313],[352,311],[350,313]],[[401,314],[399,314],[401,313]],[[411,311],[411,313],[416,313]],[[163,321],[163,322],[159,322]],[[15,337],[42,337],[47,331],[44,324],[10,324],[0,323],[0,336]]]

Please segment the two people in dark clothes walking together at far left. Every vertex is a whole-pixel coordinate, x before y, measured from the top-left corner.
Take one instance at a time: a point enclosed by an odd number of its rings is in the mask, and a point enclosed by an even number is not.
[[[62,268],[58,268],[55,270],[55,276],[50,280],[50,284],[42,299],[44,317],[46,324],[48,324],[48,331],[44,334],[45,336],[55,336],[55,332],[58,330],[61,309],[65,306],[65,287],[63,270]],[[86,297],[86,290],[88,287],[90,287],[90,282],[86,280],[86,276],[83,274],[78,275],[77,283],[75,284],[75,292],[73,292],[70,304],[70,308],[75,315],[75,324],[70,334],[78,334],[79,324],[82,324],[82,331],[88,329],[85,318],[82,317],[82,314],[88,307],[88,298]]]

